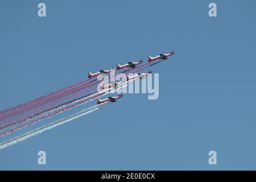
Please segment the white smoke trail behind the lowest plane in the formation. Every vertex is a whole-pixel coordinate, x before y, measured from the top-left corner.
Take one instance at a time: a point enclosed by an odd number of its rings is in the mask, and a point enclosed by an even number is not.
[[[2,150],[3,148],[6,148],[6,147],[12,146],[13,144],[27,140],[28,138],[35,137],[36,135],[41,134],[44,131],[51,130],[57,126],[63,125],[64,123],[71,122],[74,119],[80,118],[86,114],[92,113],[93,111],[100,109],[103,105],[104,104],[89,107],[88,109],[84,109],[84,110],[80,111],[79,113],[69,115],[68,117],[51,122],[48,125],[44,125],[44,126],[38,127],[37,129],[28,131],[27,133],[19,135],[18,137],[14,137],[9,140],[6,140],[0,144],[0,150]]]

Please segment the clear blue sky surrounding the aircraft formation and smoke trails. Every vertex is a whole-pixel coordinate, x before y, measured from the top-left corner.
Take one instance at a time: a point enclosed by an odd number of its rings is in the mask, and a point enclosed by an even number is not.
[[[37,15],[39,2],[46,18]],[[210,2],[217,18],[208,16]],[[152,68],[158,100],[126,94],[0,151],[0,169],[256,169],[255,7],[241,0],[2,0],[0,110],[89,71],[176,55]],[[46,166],[37,163],[40,150]],[[211,150],[216,166],[208,164]]]

